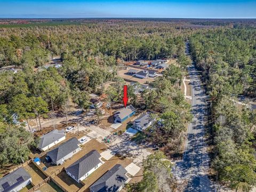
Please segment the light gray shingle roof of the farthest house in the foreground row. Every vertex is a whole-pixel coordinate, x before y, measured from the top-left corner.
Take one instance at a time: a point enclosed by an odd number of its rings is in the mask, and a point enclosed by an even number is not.
[[[64,137],[65,130],[53,130],[49,133],[44,134],[38,143],[38,148],[43,149],[46,146],[49,146],[51,143]]]

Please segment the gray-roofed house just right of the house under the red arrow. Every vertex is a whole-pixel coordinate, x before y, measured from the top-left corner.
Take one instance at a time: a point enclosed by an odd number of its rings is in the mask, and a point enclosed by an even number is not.
[[[147,127],[149,127],[150,125],[152,125],[154,121],[155,119],[151,118],[150,113],[147,112],[134,120],[132,128],[142,131],[147,129]]]

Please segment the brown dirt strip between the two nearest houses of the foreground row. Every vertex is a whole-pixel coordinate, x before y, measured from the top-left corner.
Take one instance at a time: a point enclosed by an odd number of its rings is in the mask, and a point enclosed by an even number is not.
[[[87,177],[87,179],[83,180],[83,182],[85,183],[85,186],[83,187],[83,191],[90,191],[89,187],[116,164],[121,164],[124,167],[126,167],[130,163],[131,163],[131,160],[128,158],[120,159],[119,157],[113,156],[108,161],[106,161],[103,165],[101,165],[99,169],[97,169],[92,174],[90,174],[89,177]]]

